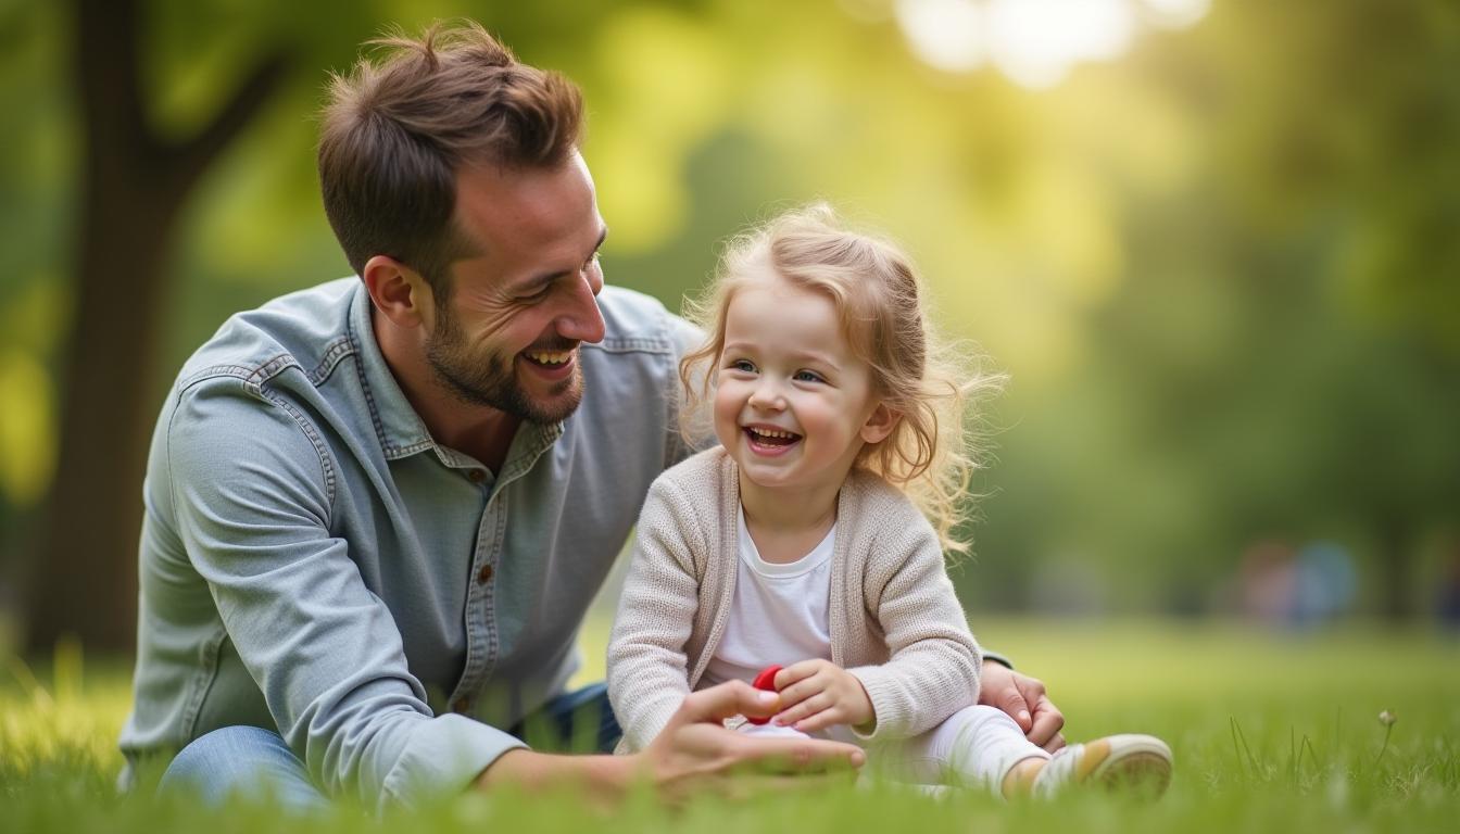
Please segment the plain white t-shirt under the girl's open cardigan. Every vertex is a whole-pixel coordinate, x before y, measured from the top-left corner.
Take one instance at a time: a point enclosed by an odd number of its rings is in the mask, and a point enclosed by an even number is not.
[[[837,524],[812,552],[788,564],[772,564],[745,526],[740,508],[740,564],[724,635],[699,678],[699,688],[726,681],[755,681],[766,666],[831,660],[831,555]]]

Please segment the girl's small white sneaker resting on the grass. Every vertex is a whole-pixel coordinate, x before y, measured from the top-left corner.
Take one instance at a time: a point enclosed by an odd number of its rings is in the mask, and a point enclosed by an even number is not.
[[[1034,777],[1035,796],[1054,796],[1072,784],[1101,784],[1152,797],[1171,783],[1171,748],[1156,736],[1126,733],[1070,745]]]

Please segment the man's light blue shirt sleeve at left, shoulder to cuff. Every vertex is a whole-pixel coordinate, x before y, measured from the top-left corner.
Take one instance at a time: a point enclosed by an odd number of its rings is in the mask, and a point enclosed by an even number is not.
[[[432,716],[385,603],[330,535],[339,485],[307,416],[267,389],[210,380],[166,434],[178,533],[277,729],[330,795],[384,808],[464,789],[524,746]]]

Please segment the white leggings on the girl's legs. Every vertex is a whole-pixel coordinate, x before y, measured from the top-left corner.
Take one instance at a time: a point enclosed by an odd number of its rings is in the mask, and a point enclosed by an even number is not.
[[[790,727],[742,724],[750,735],[804,735]],[[931,730],[910,739],[867,743],[848,727],[829,727],[818,738],[860,745],[867,749],[867,773],[911,784],[980,787],[1000,793],[1004,776],[1026,758],[1048,760],[1050,754],[1023,736],[1003,710],[964,707]]]

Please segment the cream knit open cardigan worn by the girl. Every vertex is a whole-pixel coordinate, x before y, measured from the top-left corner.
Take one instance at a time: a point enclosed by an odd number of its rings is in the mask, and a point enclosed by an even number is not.
[[[664,472],[639,514],[609,643],[620,751],[644,749],[699,684],[724,634],[739,562],[740,483],[715,447]],[[896,488],[854,470],[837,498],[831,660],[861,681],[864,741],[930,730],[978,700],[968,631],[927,519]]]

